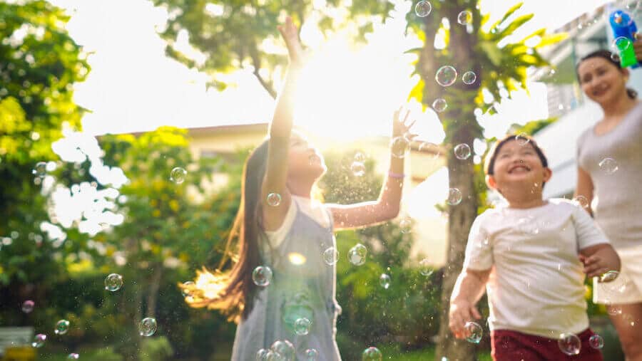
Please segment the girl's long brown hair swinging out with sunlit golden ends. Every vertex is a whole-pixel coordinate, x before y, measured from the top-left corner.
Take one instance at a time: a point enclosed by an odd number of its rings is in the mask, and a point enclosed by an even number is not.
[[[218,270],[210,272],[203,267],[203,271],[196,271],[195,284],[179,285],[191,307],[218,309],[236,322],[250,314],[256,292],[252,272],[260,265],[259,241],[265,237],[260,194],[266,167],[267,140],[256,147],[243,166],[240,206]],[[233,266],[229,271],[220,271],[230,262]]]

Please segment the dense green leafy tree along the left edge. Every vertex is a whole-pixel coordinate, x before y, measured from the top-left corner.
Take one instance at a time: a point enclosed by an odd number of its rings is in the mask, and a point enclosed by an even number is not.
[[[68,36],[61,9],[47,1],[0,2],[0,285],[1,303],[39,303],[65,269],[54,255],[60,245],[41,229],[50,221],[38,162],[56,167],[51,143],[63,124],[79,129],[83,109],[73,103],[73,84],[89,66]],[[53,175],[61,175],[58,167]],[[47,280],[47,281],[46,281]],[[42,287],[34,287],[41,284]],[[21,325],[26,315],[6,310],[2,323]],[[38,317],[46,317],[39,314]]]

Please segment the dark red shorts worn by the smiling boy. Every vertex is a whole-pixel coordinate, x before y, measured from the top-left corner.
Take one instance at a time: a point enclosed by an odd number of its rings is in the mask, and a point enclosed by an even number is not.
[[[495,361],[603,361],[602,352],[588,344],[592,335],[590,328],[577,335],[582,342],[580,353],[569,356],[561,352],[556,339],[494,330],[491,332],[491,355]]]

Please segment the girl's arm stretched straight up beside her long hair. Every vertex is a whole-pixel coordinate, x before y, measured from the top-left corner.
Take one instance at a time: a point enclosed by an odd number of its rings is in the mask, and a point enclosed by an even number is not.
[[[302,47],[298,38],[298,30],[292,19],[287,17],[285,24],[278,26],[290,56],[285,85],[277,99],[272,122],[270,122],[270,139],[267,141],[267,167],[261,187],[261,204],[263,204],[263,226],[267,230],[275,230],[283,223],[290,208],[292,198],[285,187],[287,179],[287,159],[290,150],[290,134],[292,132],[294,95],[297,80],[302,68]],[[267,195],[279,194],[278,206],[265,206]]]

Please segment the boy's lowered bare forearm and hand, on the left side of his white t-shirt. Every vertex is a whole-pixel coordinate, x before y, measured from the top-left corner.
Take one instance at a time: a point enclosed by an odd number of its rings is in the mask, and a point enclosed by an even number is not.
[[[450,297],[448,325],[456,338],[465,338],[464,325],[472,319],[479,320],[477,301],[484,295],[486,282],[491,269],[476,271],[464,268],[457,277],[457,282]]]

